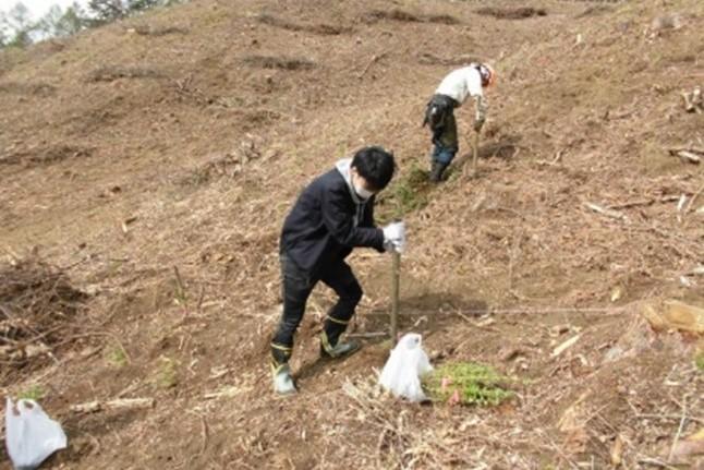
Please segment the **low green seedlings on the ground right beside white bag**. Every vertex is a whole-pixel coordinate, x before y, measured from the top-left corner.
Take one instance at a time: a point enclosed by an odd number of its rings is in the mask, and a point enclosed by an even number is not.
[[[445,364],[423,377],[423,387],[433,401],[496,406],[514,396],[506,384],[515,382],[494,367],[474,362]]]

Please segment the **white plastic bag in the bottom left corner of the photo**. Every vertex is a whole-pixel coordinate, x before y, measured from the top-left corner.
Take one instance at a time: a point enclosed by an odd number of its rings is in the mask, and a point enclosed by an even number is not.
[[[8,454],[17,470],[35,469],[51,454],[66,447],[61,424],[34,400],[13,403],[8,397],[4,422]]]

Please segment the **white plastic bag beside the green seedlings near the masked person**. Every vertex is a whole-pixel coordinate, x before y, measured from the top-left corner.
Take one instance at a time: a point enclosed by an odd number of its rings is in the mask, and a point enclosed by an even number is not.
[[[379,382],[396,397],[411,401],[425,401],[427,397],[421,388],[421,375],[430,372],[433,366],[428,355],[421,347],[421,335],[404,335],[386,361]]]

